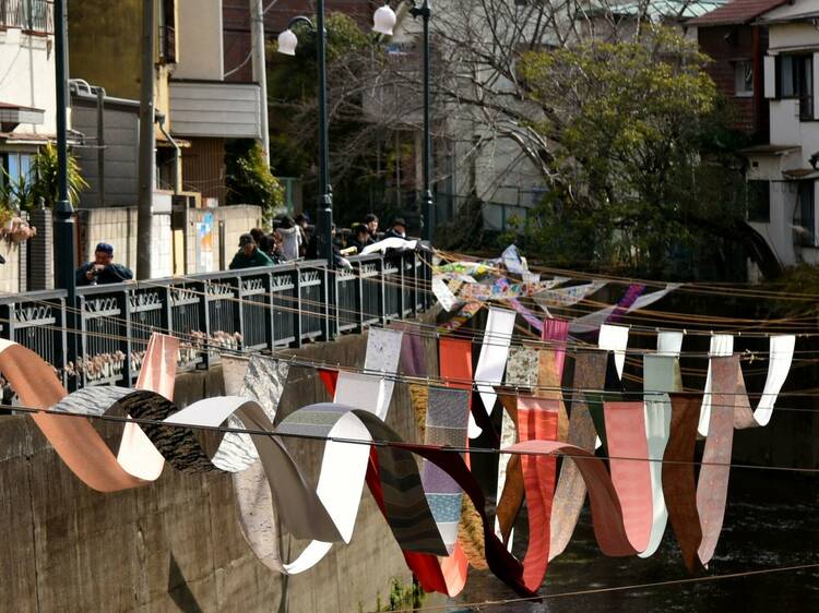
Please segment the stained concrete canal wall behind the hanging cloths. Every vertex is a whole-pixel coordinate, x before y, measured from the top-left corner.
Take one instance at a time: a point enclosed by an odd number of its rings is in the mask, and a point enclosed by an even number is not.
[[[365,345],[365,337],[345,337],[297,353],[356,364]],[[428,349],[434,351],[431,344]],[[222,387],[218,369],[182,375],[177,401],[186,405]],[[314,371],[294,369],[280,410],[327,398]],[[408,393],[401,385],[388,421],[416,440]],[[118,428],[100,426],[114,445]],[[320,462],[314,443],[287,445],[314,479]],[[285,578],[263,566],[241,537],[228,476],[186,476],[166,467],[155,483],[100,494],[71,474],[28,417],[3,417],[0,611],[373,610],[379,597],[387,601],[391,578],[408,582],[411,577],[366,490],[351,544],[334,546],[304,575]],[[304,543],[285,538],[285,551],[288,545],[293,558]]]

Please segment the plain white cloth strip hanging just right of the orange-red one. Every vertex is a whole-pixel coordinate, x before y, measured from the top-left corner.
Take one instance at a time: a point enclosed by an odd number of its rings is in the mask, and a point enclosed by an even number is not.
[[[509,359],[509,346],[512,342],[514,330],[514,311],[506,309],[489,309],[484,332],[484,344],[480,346],[480,356],[475,366],[475,382],[480,395],[480,401],[490,413],[495,407],[498,396],[495,385],[503,381],[503,371]],[[476,438],[483,430],[475,423],[475,418],[470,413],[470,438]]]

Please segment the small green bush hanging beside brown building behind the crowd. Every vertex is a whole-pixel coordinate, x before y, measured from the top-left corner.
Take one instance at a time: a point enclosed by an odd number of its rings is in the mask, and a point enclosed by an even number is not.
[[[261,144],[236,141],[226,147],[227,204],[256,204],[265,223],[284,205],[284,188],[264,160]]]

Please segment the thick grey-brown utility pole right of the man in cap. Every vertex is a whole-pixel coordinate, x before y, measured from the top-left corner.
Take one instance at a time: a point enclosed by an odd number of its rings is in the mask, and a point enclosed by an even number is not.
[[[140,197],[136,212],[136,278],[151,278],[153,248],[154,175],[156,172],[154,134],[154,51],[156,47],[156,5],[142,0],[142,83],[140,87]]]

